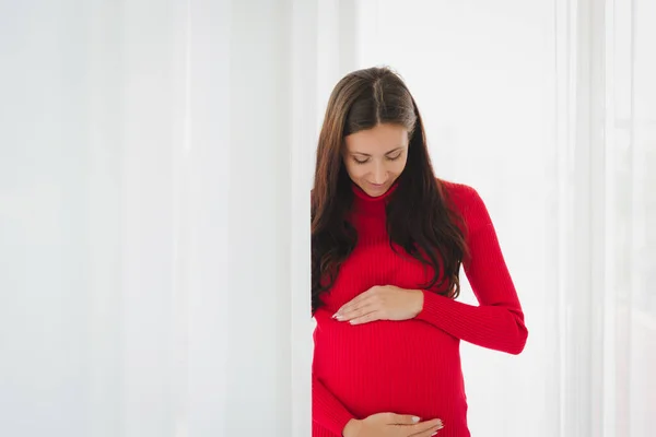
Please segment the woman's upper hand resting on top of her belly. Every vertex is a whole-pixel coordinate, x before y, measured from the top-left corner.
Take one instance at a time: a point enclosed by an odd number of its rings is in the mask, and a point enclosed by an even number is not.
[[[375,320],[408,320],[423,308],[421,290],[405,290],[394,285],[376,285],[342,306],[332,317],[351,324]]]

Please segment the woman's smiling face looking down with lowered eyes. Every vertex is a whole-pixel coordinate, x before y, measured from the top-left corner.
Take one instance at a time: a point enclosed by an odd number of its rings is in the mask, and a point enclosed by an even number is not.
[[[406,168],[409,139],[402,126],[377,125],[344,140],[347,172],[368,196],[384,194]]]

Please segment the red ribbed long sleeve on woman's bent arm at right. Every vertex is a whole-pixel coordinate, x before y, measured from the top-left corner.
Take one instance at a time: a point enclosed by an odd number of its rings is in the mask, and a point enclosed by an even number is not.
[[[469,343],[519,354],[528,338],[524,312],[503,258],[496,232],[479,194],[465,187],[459,202],[470,233],[465,273],[479,302],[468,305],[423,291],[418,319]]]

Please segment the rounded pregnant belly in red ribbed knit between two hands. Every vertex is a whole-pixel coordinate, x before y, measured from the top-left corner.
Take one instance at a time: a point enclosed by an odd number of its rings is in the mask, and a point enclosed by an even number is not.
[[[440,417],[466,430],[458,339],[419,320],[351,326],[321,310],[315,318],[315,375],[355,416]]]

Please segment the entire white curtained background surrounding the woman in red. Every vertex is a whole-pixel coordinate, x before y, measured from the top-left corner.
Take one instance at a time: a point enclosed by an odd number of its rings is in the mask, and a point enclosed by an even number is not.
[[[316,138],[386,64],[526,312],[472,435],[648,436],[655,3],[1,1],[0,435],[309,436]]]

